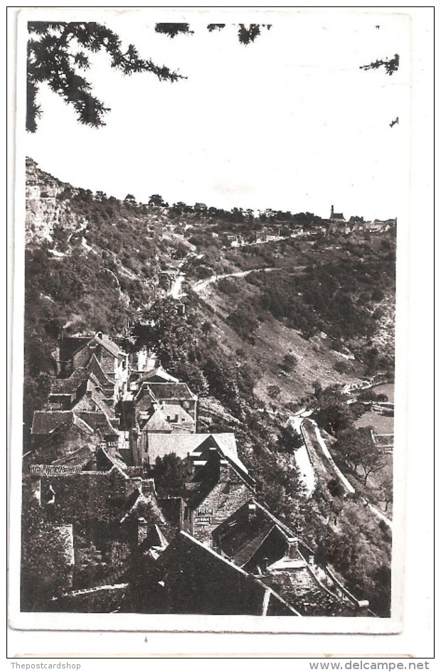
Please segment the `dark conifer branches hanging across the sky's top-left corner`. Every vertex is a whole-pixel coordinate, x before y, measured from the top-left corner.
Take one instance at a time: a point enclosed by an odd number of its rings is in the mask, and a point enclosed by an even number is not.
[[[36,132],[37,119],[41,117],[36,97],[43,83],[73,106],[82,124],[92,127],[105,124],[109,108],[92,95],[90,82],[79,74],[90,68],[90,56],[97,51],[105,50],[111,67],[124,75],[147,72],[159,80],[182,79],[164,65],[139,58],[132,44],[123,50],[117,34],[100,23],[30,21],[28,32],[26,129],[31,133]]]

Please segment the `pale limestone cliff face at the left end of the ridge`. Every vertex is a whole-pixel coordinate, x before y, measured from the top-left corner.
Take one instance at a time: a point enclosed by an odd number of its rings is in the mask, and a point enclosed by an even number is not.
[[[53,242],[55,230],[65,237],[86,228],[85,220],[70,210],[68,201],[60,200],[65,184],[44,173],[33,159],[26,159],[26,245]]]

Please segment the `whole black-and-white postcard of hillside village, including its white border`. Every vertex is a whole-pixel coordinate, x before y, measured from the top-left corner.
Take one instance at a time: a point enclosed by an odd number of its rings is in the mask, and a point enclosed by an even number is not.
[[[400,629],[412,39],[19,12],[18,623]]]

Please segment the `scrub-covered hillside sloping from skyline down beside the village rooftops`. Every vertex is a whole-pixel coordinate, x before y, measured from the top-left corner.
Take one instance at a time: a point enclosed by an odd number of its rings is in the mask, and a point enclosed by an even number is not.
[[[62,183],[31,159],[26,169],[25,451],[61,330],[103,331],[126,351],[153,348],[198,394],[201,430],[235,432],[272,510],[303,526],[336,571],[347,573],[341,548],[352,544],[352,585],[386,614],[387,530],[361,499],[344,499],[321,462],[314,498],[302,503],[289,422],[306,405],[326,431],[347,432],[363,407],[347,407],[341,385],[380,371],[393,379],[394,230],[343,234],[310,213],[167,206],[159,195],[118,201]],[[338,527],[329,522],[336,511]],[[365,530],[360,540],[355,528]]]

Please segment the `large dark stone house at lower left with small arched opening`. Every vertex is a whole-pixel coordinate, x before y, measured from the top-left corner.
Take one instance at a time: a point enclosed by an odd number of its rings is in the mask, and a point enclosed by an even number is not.
[[[166,548],[166,538],[179,530],[176,503],[164,507],[173,514],[169,521],[154,481],[130,471],[117,452],[103,446],[83,447],[51,464],[28,466],[28,496],[41,508],[46,529],[72,528],[75,562],[66,588],[114,581],[115,572],[126,572],[139,555],[157,558]],[[47,549],[34,552],[43,558]]]

